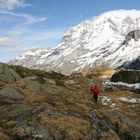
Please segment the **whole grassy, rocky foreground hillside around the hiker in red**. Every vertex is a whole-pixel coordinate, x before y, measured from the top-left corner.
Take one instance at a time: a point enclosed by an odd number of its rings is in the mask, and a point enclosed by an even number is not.
[[[100,77],[108,70],[65,76],[1,63],[0,68],[1,140],[140,139],[140,94],[106,91]],[[91,81],[102,87],[98,103]]]

